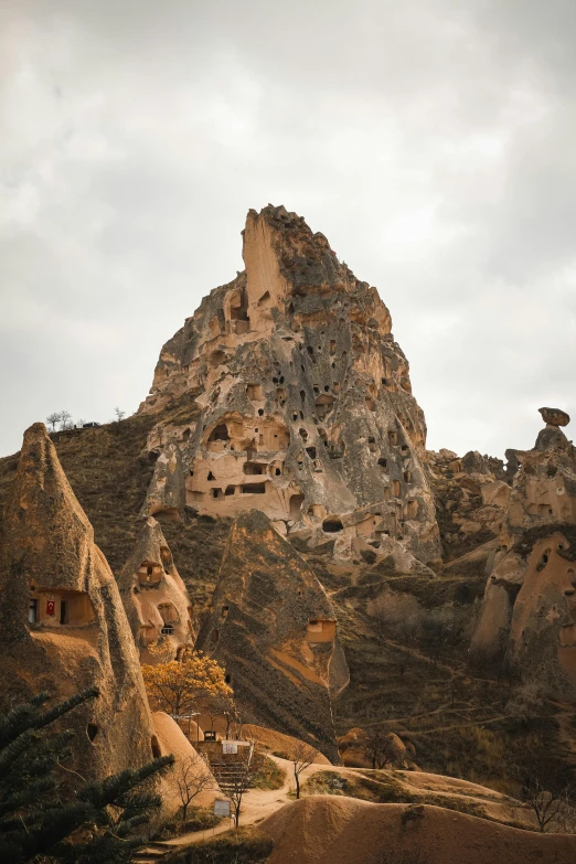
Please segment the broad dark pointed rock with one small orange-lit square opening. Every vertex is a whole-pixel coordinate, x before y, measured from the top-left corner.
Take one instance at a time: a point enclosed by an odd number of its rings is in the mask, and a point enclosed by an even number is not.
[[[348,684],[334,611],[303,558],[259,511],[232,526],[196,647],[221,661],[242,719],[338,758],[331,700]]]

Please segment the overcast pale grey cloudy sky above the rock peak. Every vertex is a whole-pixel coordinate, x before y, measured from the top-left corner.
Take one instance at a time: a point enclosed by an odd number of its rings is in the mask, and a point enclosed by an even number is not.
[[[574,0],[0,0],[0,455],[136,410],[268,202],[377,286],[431,448],[576,414],[575,33]]]

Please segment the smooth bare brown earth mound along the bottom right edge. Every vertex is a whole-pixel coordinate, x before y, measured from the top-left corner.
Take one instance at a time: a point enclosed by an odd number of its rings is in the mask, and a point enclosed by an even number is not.
[[[406,819],[412,812],[414,818]],[[576,836],[521,831],[438,807],[314,796],[269,817],[269,864],[387,864],[402,852],[426,864],[574,864]],[[396,861],[398,858],[396,857]]]

